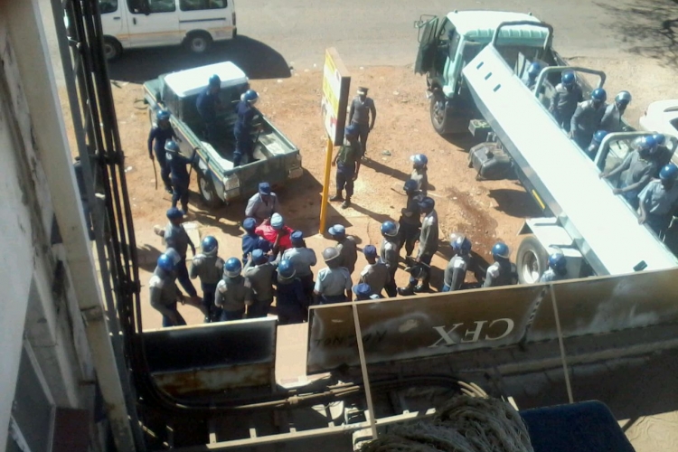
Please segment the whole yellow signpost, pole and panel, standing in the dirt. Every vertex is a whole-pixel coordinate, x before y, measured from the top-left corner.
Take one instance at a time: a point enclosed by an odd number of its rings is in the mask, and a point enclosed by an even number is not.
[[[325,51],[325,67],[323,68],[323,99],[321,115],[327,133],[325,148],[325,175],[323,178],[323,199],[320,203],[320,233],[325,231],[327,220],[327,198],[329,197],[330,173],[332,171],[332,153],[334,146],[344,142],[344,125],[346,123],[346,107],[348,106],[348,90],[351,85],[344,62],[334,47]]]

